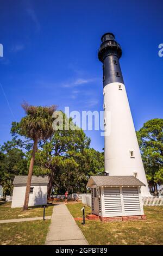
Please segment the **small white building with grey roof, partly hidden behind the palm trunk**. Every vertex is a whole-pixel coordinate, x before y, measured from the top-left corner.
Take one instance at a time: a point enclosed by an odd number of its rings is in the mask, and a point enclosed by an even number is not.
[[[28,176],[15,176],[11,208],[23,207]],[[29,206],[47,203],[48,176],[32,176]]]

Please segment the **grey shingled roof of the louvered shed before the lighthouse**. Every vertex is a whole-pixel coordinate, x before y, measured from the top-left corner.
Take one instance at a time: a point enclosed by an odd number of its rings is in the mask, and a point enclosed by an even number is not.
[[[90,176],[87,187],[91,185],[100,186],[146,186],[135,176]]]

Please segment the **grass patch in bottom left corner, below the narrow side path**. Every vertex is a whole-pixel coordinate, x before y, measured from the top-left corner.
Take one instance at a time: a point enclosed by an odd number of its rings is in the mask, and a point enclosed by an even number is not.
[[[0,245],[44,245],[50,222],[46,220],[0,224]]]

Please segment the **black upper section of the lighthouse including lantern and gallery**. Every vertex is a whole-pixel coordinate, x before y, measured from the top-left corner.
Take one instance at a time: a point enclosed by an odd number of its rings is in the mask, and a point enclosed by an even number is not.
[[[112,33],[105,33],[101,41],[98,59],[103,63],[103,85],[114,82],[124,83],[119,62],[122,56],[121,46]]]

